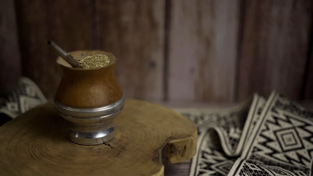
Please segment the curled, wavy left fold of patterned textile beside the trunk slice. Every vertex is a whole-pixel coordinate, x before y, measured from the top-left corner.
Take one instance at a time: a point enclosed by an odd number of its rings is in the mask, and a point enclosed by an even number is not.
[[[190,175],[227,175],[238,158],[235,153],[242,150],[246,119],[257,114],[263,102],[263,97],[254,94],[228,109],[176,109],[198,127],[198,150],[192,158]]]

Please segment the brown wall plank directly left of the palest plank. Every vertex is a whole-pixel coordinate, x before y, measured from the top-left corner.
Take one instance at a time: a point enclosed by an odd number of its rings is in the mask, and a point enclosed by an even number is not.
[[[120,59],[116,76],[126,98],[163,98],[164,2],[96,0],[99,48]]]

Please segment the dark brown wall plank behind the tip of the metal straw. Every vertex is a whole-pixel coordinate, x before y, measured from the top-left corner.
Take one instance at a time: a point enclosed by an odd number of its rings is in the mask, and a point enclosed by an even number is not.
[[[61,79],[58,54],[46,42],[65,50],[92,49],[94,4],[89,0],[17,0],[23,75],[52,98]]]

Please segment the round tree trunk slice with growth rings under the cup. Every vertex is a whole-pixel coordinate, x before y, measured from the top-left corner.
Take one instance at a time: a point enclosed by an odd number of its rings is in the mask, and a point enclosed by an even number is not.
[[[115,123],[112,140],[84,146],[66,139],[52,102],[27,111],[0,127],[1,175],[160,176],[196,153],[196,127],[166,107],[126,100]]]

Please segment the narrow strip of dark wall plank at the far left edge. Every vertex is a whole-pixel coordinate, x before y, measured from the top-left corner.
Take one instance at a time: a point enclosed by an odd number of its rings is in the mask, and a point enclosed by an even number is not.
[[[20,76],[21,61],[14,1],[0,0],[0,97],[12,90]]]

